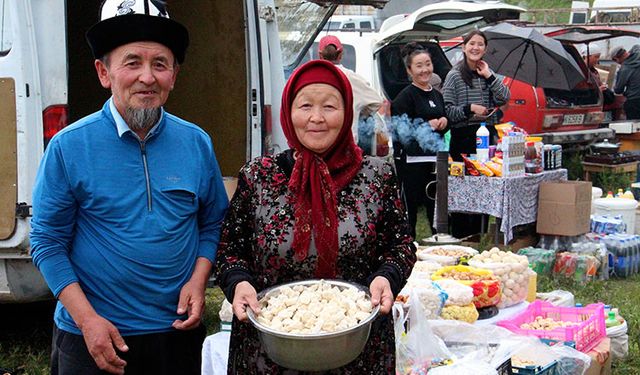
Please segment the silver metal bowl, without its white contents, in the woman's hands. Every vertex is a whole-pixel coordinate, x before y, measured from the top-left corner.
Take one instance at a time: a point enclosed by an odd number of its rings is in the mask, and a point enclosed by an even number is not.
[[[356,288],[364,291],[369,298],[369,289],[342,280],[324,280],[340,288]],[[279,293],[279,289],[295,285],[313,285],[320,280],[304,280],[281,284],[258,293],[258,301]],[[358,325],[343,331],[319,334],[294,334],[273,330],[258,323],[251,309],[247,315],[258,330],[260,342],[271,360],[282,367],[298,371],[328,371],[342,367],[360,355],[369,339],[371,323],[378,315],[380,305],[375,306],[371,315]]]

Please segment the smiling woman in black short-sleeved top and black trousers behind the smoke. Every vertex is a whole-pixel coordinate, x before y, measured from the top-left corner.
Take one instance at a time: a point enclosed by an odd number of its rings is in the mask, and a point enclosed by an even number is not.
[[[421,126],[430,126],[442,137],[448,130],[448,120],[442,94],[431,84],[431,54],[420,44],[412,42],[402,48],[402,57],[411,84],[400,91],[391,103],[391,115],[406,114],[409,121],[422,121]],[[436,179],[435,163],[424,161],[424,156],[433,156],[435,152],[423,150],[416,140],[409,144],[394,140],[393,151],[398,179],[407,202],[411,234],[415,238],[418,207],[422,205],[426,207],[432,233],[436,233],[433,221],[435,201],[429,199],[426,192],[427,185]],[[435,197],[435,189],[432,195]]]

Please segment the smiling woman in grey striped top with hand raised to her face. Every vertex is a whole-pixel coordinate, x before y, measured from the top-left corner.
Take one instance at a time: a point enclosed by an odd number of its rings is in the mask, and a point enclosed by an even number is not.
[[[493,125],[498,121],[498,111],[491,112],[509,101],[509,88],[482,60],[486,51],[484,33],[474,30],[465,35],[462,42],[464,57],[449,71],[442,88],[451,127],[449,154],[456,161],[462,161],[461,154],[476,153],[476,131],[481,122],[487,124],[490,141],[495,144],[497,134]],[[453,213],[451,234],[463,238],[479,233],[481,219],[479,215]]]

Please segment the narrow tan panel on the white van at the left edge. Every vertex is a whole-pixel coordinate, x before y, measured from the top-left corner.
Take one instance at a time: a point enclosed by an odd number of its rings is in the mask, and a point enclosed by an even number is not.
[[[15,93],[15,81],[0,78],[0,240],[9,238],[16,226],[18,150]]]

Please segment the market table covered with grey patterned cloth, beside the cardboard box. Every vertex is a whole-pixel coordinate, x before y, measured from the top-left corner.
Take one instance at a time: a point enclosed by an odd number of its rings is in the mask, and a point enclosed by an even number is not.
[[[449,176],[449,213],[487,214],[501,219],[506,245],[513,238],[515,226],[536,221],[538,185],[566,179],[566,169],[516,177]]]

